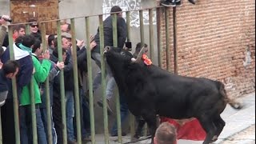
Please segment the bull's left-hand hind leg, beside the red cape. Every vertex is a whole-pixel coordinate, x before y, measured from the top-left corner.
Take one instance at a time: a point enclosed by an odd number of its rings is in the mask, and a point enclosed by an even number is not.
[[[212,142],[214,135],[216,134],[217,128],[214,125],[213,118],[206,117],[206,115],[202,116],[202,118],[198,118],[202,128],[206,131],[206,139],[203,144],[209,144]]]

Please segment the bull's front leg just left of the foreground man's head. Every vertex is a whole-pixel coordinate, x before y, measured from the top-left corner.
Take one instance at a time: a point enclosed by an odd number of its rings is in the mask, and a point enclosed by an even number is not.
[[[149,110],[151,111],[151,110]],[[154,110],[152,110],[154,111]],[[147,125],[150,128],[150,134],[151,134],[151,144],[154,143],[154,134],[157,130],[157,123],[156,123],[156,114],[142,114],[142,118],[145,119]]]

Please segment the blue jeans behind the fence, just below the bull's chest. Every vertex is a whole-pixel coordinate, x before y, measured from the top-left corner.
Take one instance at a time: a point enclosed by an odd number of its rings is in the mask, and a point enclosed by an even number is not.
[[[120,113],[121,113],[121,125],[122,125],[129,114],[129,109],[128,109],[128,104],[127,104],[126,99],[124,98],[123,94],[120,93],[119,95],[120,95]],[[112,129],[111,129],[111,135],[118,134],[118,124],[117,123],[118,123],[117,120],[115,120],[114,125],[112,126]]]

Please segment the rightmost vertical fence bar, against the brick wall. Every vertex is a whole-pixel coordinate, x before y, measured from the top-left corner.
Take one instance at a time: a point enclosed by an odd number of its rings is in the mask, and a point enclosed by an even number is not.
[[[174,74],[178,74],[178,52],[177,52],[177,19],[176,7],[173,8],[173,21],[174,21]]]

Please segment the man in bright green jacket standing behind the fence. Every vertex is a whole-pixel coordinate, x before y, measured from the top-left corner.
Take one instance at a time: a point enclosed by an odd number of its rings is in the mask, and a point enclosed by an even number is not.
[[[26,41],[30,45],[25,45]],[[34,101],[36,104],[36,121],[37,121],[37,131],[38,131],[38,144],[45,144],[46,132],[42,123],[41,113],[38,104],[41,103],[41,94],[39,90],[39,82],[45,82],[48,74],[50,72],[51,62],[49,60],[50,54],[46,52],[43,54],[44,59],[42,63],[38,61],[38,58],[32,54],[32,47],[35,46],[34,43],[37,42],[33,36],[30,38],[23,39],[22,44],[19,45],[22,50],[28,51],[32,55],[32,61],[34,64],[34,75],[32,76],[32,82],[34,91]],[[32,44],[32,45],[31,45]],[[29,47],[30,46],[30,47]],[[40,45],[39,45],[40,46]],[[41,50],[41,47],[38,47]],[[31,122],[31,94],[30,85],[24,86],[22,88],[22,96],[20,99],[20,130],[21,130],[21,143],[27,144],[32,143],[33,133],[32,133],[32,122]]]

